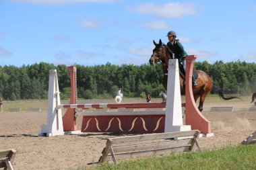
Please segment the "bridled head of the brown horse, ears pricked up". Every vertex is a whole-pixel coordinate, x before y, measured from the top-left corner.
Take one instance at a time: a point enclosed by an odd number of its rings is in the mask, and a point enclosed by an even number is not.
[[[166,57],[168,59],[172,58],[172,54],[170,54],[169,48],[162,43],[162,40],[160,39],[158,44],[153,40],[154,45],[156,46],[153,50],[153,54],[150,57],[150,65],[155,65],[158,62],[164,63],[166,60]]]

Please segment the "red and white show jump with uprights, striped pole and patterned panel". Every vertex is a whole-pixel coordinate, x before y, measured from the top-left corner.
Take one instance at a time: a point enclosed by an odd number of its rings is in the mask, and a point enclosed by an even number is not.
[[[70,104],[61,104],[57,71],[49,76],[49,108],[47,124],[41,128],[40,136],[55,136],[77,131],[76,116],[83,116],[81,132],[181,132],[192,129],[202,134],[211,134],[210,122],[197,109],[192,92],[192,71],[196,56],[187,56],[186,77],[186,124],[183,125],[178,60],[168,62],[167,101],[162,103],[98,103],[77,104],[76,69],[69,67],[71,79]],[[61,117],[61,109],[67,112]],[[75,109],[90,110],[76,112]],[[165,109],[165,110],[164,110]]]

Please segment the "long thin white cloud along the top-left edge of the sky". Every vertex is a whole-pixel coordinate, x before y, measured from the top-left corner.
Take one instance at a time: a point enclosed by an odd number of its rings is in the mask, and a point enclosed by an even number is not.
[[[32,3],[38,5],[58,5],[58,4],[71,4],[71,3],[111,3],[121,0],[5,0],[15,3]]]

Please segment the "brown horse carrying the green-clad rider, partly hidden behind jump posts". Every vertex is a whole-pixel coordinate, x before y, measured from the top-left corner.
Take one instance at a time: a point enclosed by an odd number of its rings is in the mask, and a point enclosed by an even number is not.
[[[163,85],[164,85],[164,89],[167,90],[166,73],[168,73],[168,60],[173,59],[172,51],[170,51],[168,46],[166,46],[165,44],[162,44],[162,40],[159,40],[158,44],[155,41],[153,42],[156,48],[154,48],[153,54],[150,57],[150,65],[155,65],[156,62],[162,63],[162,71],[164,73]],[[198,85],[193,86],[193,95],[194,95],[195,102],[200,97],[199,107],[198,107],[200,112],[203,110],[203,102],[205,100],[205,97],[210,93],[210,91],[212,91],[212,89],[214,89],[214,91],[216,91],[222,99],[228,100],[228,99],[238,98],[238,97],[225,97],[220,87],[218,87],[215,83],[213,83],[209,75],[207,75],[203,71],[196,71],[196,72],[198,74],[198,78],[197,78]],[[183,79],[180,76],[181,95],[185,95],[185,88],[183,87],[184,83],[185,83],[185,79]]]

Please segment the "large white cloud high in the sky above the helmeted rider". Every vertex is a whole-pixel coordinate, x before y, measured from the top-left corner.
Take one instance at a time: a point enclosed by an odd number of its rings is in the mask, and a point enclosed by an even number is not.
[[[198,8],[192,3],[147,3],[140,5],[135,11],[157,17],[183,17],[185,15],[195,15]]]

